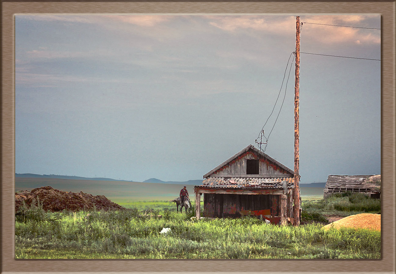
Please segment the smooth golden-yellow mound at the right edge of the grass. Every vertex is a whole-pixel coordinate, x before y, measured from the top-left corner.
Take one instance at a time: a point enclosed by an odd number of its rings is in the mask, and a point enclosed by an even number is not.
[[[361,213],[350,215],[331,224],[325,225],[323,228],[329,229],[331,226],[334,226],[335,228],[352,227],[381,231],[381,214]]]

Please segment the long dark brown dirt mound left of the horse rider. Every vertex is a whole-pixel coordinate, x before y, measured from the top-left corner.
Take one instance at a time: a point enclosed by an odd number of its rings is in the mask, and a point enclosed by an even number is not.
[[[15,212],[18,212],[23,201],[30,205],[34,200],[42,202],[43,209],[49,211],[62,211],[63,209],[72,211],[91,210],[94,206],[97,210],[103,209],[105,211],[125,209],[121,205],[111,202],[105,196],[93,196],[84,192],[65,192],[51,186],[42,186],[31,191],[15,192]]]

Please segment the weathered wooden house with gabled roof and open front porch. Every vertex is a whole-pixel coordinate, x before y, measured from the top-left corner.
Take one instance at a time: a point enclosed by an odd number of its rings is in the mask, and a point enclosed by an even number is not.
[[[293,221],[294,172],[248,145],[204,175],[194,186],[196,217],[204,194],[203,217],[264,215],[272,223]]]

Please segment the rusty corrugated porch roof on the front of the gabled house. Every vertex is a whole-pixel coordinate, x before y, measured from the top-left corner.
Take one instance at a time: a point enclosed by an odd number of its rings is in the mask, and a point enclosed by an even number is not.
[[[283,188],[283,181],[287,181],[287,188],[294,188],[294,178],[224,178],[209,177],[202,181],[204,187],[213,188]]]

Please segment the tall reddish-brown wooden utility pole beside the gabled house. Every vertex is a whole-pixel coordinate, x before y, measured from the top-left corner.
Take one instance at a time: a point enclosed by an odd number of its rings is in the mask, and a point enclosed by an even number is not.
[[[300,225],[300,120],[299,120],[299,107],[300,107],[300,17],[296,16],[296,70],[294,80],[294,208],[293,217],[294,225]]]

